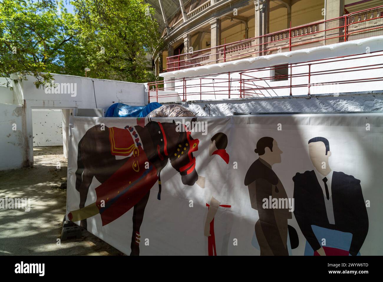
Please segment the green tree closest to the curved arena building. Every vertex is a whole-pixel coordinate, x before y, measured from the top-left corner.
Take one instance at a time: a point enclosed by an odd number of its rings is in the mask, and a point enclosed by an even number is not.
[[[90,76],[151,81],[151,58],[162,44],[155,10],[142,0],[73,0],[79,42]],[[149,64],[148,64],[149,63]]]

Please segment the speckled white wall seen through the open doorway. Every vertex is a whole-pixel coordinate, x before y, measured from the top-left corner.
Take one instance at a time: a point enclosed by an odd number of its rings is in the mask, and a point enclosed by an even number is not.
[[[33,147],[62,146],[62,118],[59,109],[32,110]]]

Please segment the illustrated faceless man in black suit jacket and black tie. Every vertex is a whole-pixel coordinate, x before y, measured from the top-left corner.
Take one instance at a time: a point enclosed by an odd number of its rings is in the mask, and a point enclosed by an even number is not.
[[[368,232],[368,216],[360,180],[329,166],[329,141],[324,137],[309,140],[309,155],[315,169],[296,173],[294,215],[306,240],[319,255],[336,254],[321,246],[312,226],[352,234],[349,254],[358,254]],[[331,241],[334,238],[324,238]],[[338,250],[339,251],[339,250]],[[339,252],[340,254],[340,252]]]

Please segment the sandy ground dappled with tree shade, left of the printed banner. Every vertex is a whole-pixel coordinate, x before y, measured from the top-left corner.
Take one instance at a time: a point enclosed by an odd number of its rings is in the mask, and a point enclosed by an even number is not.
[[[30,198],[31,208],[0,209],[0,255],[122,255],[88,231],[61,241],[67,160],[62,146],[35,147],[34,167],[0,172],[0,198]],[[60,165],[61,168],[57,168]]]

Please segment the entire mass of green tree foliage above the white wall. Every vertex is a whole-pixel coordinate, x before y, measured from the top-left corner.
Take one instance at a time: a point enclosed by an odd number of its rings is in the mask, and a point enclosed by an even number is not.
[[[36,87],[50,73],[122,81],[152,79],[150,55],[161,45],[158,24],[141,0],[0,2],[0,76],[33,74]],[[149,8],[150,13],[154,9]],[[149,62],[147,54],[149,55]]]

